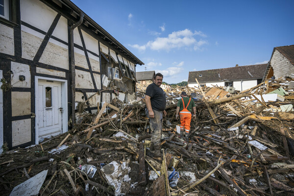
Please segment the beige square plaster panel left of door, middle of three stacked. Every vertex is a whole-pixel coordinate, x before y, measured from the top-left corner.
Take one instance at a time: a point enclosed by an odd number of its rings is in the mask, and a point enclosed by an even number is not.
[[[11,92],[12,116],[31,114],[30,92]]]

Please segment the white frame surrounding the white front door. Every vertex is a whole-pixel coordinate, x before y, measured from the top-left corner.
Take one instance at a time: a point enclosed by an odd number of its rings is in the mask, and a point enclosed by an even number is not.
[[[56,81],[61,83],[61,98],[62,98],[62,133],[65,133],[68,131],[68,88],[67,88],[67,80],[63,79],[55,79],[51,77],[42,77],[42,76],[35,76],[35,114],[36,114],[36,120],[35,120],[35,144],[39,144],[39,127],[38,127],[38,84],[39,80],[50,80],[50,81]]]

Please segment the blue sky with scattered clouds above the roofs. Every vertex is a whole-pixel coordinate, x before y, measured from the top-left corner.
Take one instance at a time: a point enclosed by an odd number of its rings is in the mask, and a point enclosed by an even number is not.
[[[267,63],[294,44],[294,0],[72,0],[167,83]]]

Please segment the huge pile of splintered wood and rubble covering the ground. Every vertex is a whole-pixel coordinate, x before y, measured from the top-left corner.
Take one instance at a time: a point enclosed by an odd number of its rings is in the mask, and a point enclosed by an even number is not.
[[[41,196],[294,195],[292,78],[243,92],[163,88],[168,104],[161,160],[152,158],[145,87],[139,87],[134,101],[115,98],[96,114],[80,112],[67,133],[2,153],[1,194],[35,195],[31,188],[17,192],[26,183]],[[181,91],[196,103],[189,141],[177,132]]]

